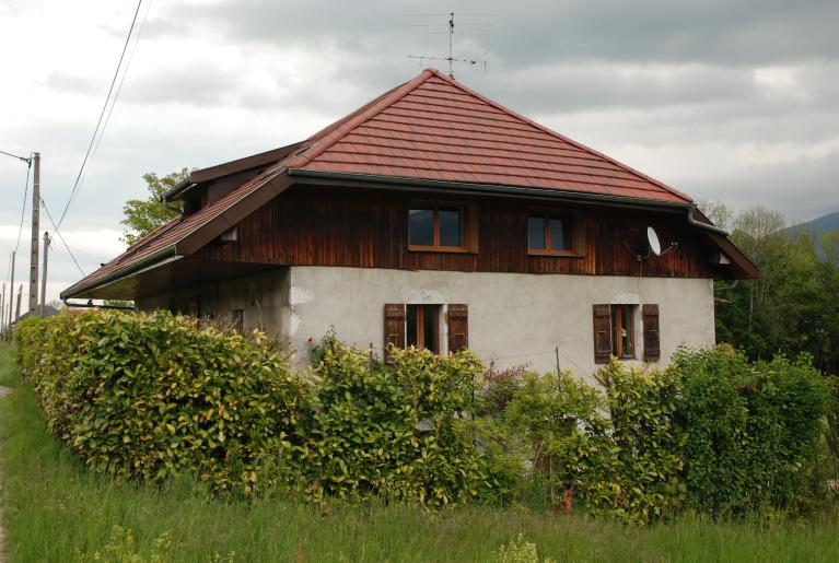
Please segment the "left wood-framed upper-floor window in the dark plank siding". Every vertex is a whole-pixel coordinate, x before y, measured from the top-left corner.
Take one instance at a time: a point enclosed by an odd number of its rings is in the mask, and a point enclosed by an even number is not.
[[[465,206],[418,206],[408,210],[408,248],[467,251],[466,211]]]

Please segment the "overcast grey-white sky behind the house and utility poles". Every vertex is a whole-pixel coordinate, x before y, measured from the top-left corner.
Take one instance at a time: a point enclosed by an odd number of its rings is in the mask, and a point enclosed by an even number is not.
[[[54,214],[136,7],[0,0],[0,150],[40,152]],[[62,226],[82,269],[121,250],[123,204],[144,195],[144,173],[302,140],[423,66],[445,70],[407,55],[446,55],[451,10],[455,56],[488,61],[487,73],[457,67],[457,79],[488,97],[697,199],[764,203],[790,222],[839,210],[836,0],[144,0],[118,103]],[[0,155],[0,274],[25,172]],[[60,243],[53,250],[57,297],[80,273]],[[28,216],[19,255],[21,280]]]

